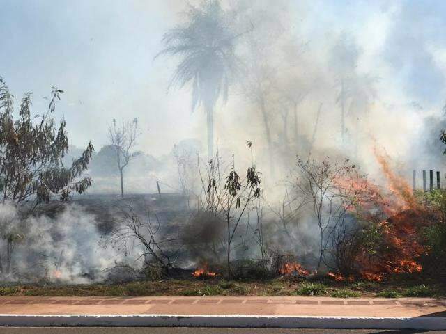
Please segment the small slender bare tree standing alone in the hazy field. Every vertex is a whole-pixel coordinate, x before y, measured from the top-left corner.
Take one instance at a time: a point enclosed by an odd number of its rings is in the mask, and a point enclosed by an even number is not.
[[[127,167],[130,159],[136,157],[139,152],[130,152],[137,143],[139,136],[138,119],[123,121],[120,126],[116,126],[113,119],[113,126],[109,127],[109,141],[116,153],[116,166],[118,166],[121,177],[121,196],[124,196],[124,168]]]

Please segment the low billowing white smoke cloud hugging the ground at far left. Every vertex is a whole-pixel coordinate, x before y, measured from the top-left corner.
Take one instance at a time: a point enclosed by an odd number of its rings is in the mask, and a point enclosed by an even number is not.
[[[5,204],[0,216],[0,247],[11,249],[2,258],[3,280],[91,283],[107,278],[106,269],[123,260],[102,242],[95,216],[79,205],[65,206],[53,218],[21,218],[22,212]]]

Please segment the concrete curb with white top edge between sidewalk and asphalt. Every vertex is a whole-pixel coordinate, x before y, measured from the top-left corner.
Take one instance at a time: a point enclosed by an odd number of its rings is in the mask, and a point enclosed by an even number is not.
[[[256,315],[0,315],[0,326],[123,326],[445,330],[446,317]]]

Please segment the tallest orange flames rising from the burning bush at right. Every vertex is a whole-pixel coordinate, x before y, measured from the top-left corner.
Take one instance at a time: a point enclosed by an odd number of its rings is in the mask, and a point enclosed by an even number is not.
[[[371,256],[364,249],[356,260],[362,278],[379,282],[392,273],[422,270],[418,259],[426,249],[420,244],[419,235],[420,229],[429,221],[410,184],[393,172],[390,159],[376,148],[374,154],[387,179],[387,188],[380,192],[382,200],[376,205],[388,218],[383,218],[377,225],[381,235],[381,245],[376,248],[378,252]]]

